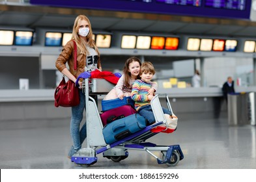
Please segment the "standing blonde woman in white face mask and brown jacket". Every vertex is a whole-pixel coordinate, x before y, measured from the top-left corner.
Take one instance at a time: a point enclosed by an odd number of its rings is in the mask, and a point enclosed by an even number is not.
[[[74,70],[74,42],[78,47],[77,51],[77,70]],[[66,62],[68,62],[69,69],[66,68]],[[72,38],[64,45],[61,54],[55,62],[56,68],[63,73],[68,79],[76,83],[76,78],[80,73],[85,71],[93,71],[97,68],[102,70],[100,64],[100,53],[92,40],[92,28],[89,19],[84,15],[79,15],[75,22],[72,31]],[[78,81],[81,86],[81,81]],[[80,123],[83,120],[83,110],[85,109],[85,95],[79,89],[79,105],[71,108],[72,116],[70,120],[70,135],[72,136],[73,146],[71,147],[68,158],[71,158],[74,154],[79,155],[79,149],[85,140],[86,122],[80,129]]]

